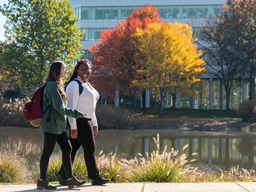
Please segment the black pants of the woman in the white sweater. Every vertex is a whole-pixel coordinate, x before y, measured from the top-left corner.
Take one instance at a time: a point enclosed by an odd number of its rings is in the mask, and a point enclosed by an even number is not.
[[[76,119],[76,127],[77,127],[77,138],[73,139],[69,135],[69,140],[72,146],[71,152],[71,160],[74,162],[74,158],[76,156],[76,152],[82,145],[84,149],[84,160],[88,171],[89,179],[96,179],[99,176],[99,170],[96,164],[94,151],[95,151],[95,142],[94,142],[94,134],[92,129],[92,124],[90,122],[91,119],[88,118],[78,118]],[[65,172],[63,171],[63,166],[60,168],[61,179],[66,179]]]

